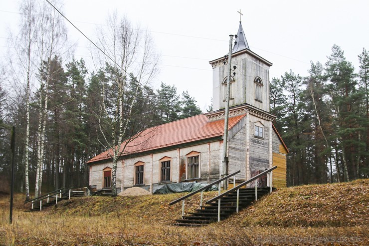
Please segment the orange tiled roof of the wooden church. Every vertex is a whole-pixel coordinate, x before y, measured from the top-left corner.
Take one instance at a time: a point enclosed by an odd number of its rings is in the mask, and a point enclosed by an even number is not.
[[[228,130],[239,122],[245,114],[229,118]],[[140,153],[175,146],[183,143],[195,142],[198,140],[209,139],[222,136],[224,132],[224,119],[208,121],[203,115],[192,116],[183,120],[178,120],[156,127],[148,128],[135,135],[130,142],[123,142],[121,148],[127,145],[122,155]],[[111,159],[113,151],[107,150],[89,160],[93,163],[101,160]]]

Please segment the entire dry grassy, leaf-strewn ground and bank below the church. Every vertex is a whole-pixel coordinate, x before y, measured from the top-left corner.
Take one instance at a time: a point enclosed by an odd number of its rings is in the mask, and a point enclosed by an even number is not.
[[[369,245],[369,180],[279,189],[249,209],[202,228],[178,228],[183,194],[86,197],[24,212],[0,197],[0,245]],[[205,201],[217,192],[205,193]],[[185,212],[199,204],[186,200]]]

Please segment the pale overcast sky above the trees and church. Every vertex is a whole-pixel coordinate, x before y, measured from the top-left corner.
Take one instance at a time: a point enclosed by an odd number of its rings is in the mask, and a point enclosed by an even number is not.
[[[178,92],[188,90],[205,110],[212,96],[208,61],[228,52],[239,9],[250,49],[273,63],[271,77],[290,69],[307,75],[310,61],[325,63],[333,44],[355,67],[363,47],[369,49],[367,0],[64,0],[61,11],[91,39],[115,10],[148,28],[161,55],[153,85],[163,81]],[[8,46],[7,29],[16,32],[19,17],[17,1],[0,0],[0,59]],[[75,56],[89,64],[88,41],[66,26],[68,38],[77,43]]]

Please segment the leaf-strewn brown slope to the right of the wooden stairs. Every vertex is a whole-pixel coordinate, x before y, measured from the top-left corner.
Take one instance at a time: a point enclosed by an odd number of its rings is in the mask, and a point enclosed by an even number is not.
[[[369,223],[369,180],[280,189],[240,217],[244,226],[346,227]]]

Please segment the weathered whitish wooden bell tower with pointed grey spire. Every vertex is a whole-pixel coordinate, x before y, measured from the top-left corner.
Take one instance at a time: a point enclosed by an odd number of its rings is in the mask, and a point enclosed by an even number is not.
[[[213,110],[225,107],[226,57],[210,61],[213,70]],[[272,63],[250,50],[241,21],[232,48],[229,107],[250,105],[269,112],[269,68]]]

